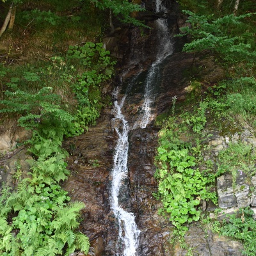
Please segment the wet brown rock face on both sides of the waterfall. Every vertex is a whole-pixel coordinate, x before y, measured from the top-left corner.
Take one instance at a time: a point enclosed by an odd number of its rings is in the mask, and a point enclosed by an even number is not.
[[[174,95],[177,95],[180,100],[184,99],[186,88],[189,86],[189,76],[184,76],[184,73],[189,71],[193,58],[193,54],[176,53],[166,60],[161,70],[163,80],[159,83],[156,92],[155,116],[172,108]],[[197,61],[200,63],[198,65],[202,65],[199,59]],[[209,60],[205,65],[213,64]],[[138,71],[136,68],[132,70]],[[132,74],[134,73],[127,73],[123,79],[129,79]],[[141,76],[143,79],[143,74]],[[214,78],[214,68],[207,76],[210,76],[210,79]],[[125,92],[127,88],[122,89],[118,102]],[[129,127],[133,127],[138,120],[142,102],[143,88],[138,81],[129,91],[122,108]],[[111,211],[109,189],[117,139],[117,134],[111,125],[118,127],[120,124],[118,120],[111,122],[110,109],[106,109],[102,116],[97,127],[90,128],[86,134],[67,141],[65,145],[69,148],[70,154],[73,154],[69,161],[72,176],[65,184],[65,189],[70,192],[73,200],[81,200],[86,204],[82,215],[81,231],[90,237],[92,246],[90,255],[96,256],[115,255],[119,250],[118,223]],[[136,223],[141,230],[139,255],[185,255],[181,248],[179,250],[172,248],[170,244],[172,225],[170,221],[159,216],[158,209],[161,208],[161,202],[152,195],[157,191],[157,182],[154,179],[157,129],[153,124],[154,120],[147,129],[134,129],[129,132],[129,179],[125,180],[128,186],[123,189],[128,196],[127,200],[120,196],[121,203],[127,211],[134,212]],[[204,234],[202,236],[204,237]],[[202,239],[199,236],[193,241],[201,244]],[[202,248],[204,246],[207,246],[206,242],[202,243]]]

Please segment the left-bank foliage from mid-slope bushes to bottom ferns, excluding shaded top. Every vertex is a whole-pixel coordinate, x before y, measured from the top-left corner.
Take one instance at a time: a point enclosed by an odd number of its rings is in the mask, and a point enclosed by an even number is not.
[[[100,86],[113,75],[113,65],[102,44],[86,43],[70,47],[67,56],[52,58],[46,67],[17,72],[17,77],[8,79],[9,70],[1,72],[7,90],[0,112],[12,113],[20,126],[33,130],[27,141],[33,156],[28,160],[29,178],[20,179],[22,171],[17,165],[13,177],[17,188],[12,194],[8,189],[1,191],[1,255],[88,253],[88,237],[77,232],[84,204],[70,203],[67,192],[58,185],[69,174],[68,154],[61,143],[65,135],[81,134],[95,123],[103,105]],[[54,81],[57,78],[58,82]],[[45,86],[51,81],[52,87]],[[32,92],[28,84],[36,85]],[[73,108],[68,108],[60,94],[63,86],[76,96]]]

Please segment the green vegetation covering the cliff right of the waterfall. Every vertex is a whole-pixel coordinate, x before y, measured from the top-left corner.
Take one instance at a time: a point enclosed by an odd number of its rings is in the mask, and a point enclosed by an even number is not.
[[[252,145],[230,143],[216,157],[217,169],[203,156],[207,151],[205,141],[212,136],[211,127],[224,130],[221,125],[227,122],[236,123],[235,129],[247,125],[255,131],[256,13],[253,12],[256,8],[253,1],[236,1],[236,6],[231,6],[229,1],[180,0],[179,3],[188,15],[188,26],[181,28],[179,35],[188,38],[183,51],[195,52],[195,58],[214,56],[226,72],[225,79],[215,84],[204,84],[200,78],[191,76],[193,104],[188,100],[186,108],[178,108],[174,97],[170,116],[157,123],[161,131],[156,156],[159,180],[156,197],[163,202],[159,212],[172,221],[178,234],[184,235],[188,230],[186,223],[200,220],[200,203],[205,200],[217,204],[213,189],[216,177],[229,172],[235,181],[237,168],[242,168],[248,179],[255,175]],[[203,87],[208,88],[206,92]],[[223,223],[218,231],[241,239],[244,253],[253,255],[255,245],[250,240],[255,236],[255,228],[241,235],[241,230],[252,225],[252,212],[244,211],[246,220],[232,217],[233,226]]]

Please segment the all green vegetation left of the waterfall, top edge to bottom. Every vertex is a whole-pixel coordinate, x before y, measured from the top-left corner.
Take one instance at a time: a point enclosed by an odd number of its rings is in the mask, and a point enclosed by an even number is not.
[[[6,15],[1,20],[3,41],[15,38],[19,44],[20,38],[26,36],[27,45],[29,40],[40,40],[43,45],[38,45],[37,55],[43,61],[24,58],[24,65],[20,65],[19,58],[15,65],[12,44],[7,51],[0,49],[1,120],[12,118],[32,131],[25,144],[33,157],[28,160],[30,173],[26,179],[22,179],[17,164],[15,186],[1,186],[0,253],[86,254],[89,239],[78,229],[79,211],[85,205],[70,202],[59,184],[69,175],[65,163],[68,153],[61,143],[63,138],[82,134],[95,124],[100,109],[110,102],[102,88],[113,76],[115,60],[102,43],[95,42],[96,37],[113,26],[112,14],[122,22],[141,25],[131,13],[142,9],[126,0],[2,1],[0,5],[1,17]],[[110,10],[109,16],[106,10]],[[75,44],[63,51],[67,47],[63,41]],[[26,45],[15,49],[18,54],[22,47]],[[50,54],[47,60],[42,54],[44,47]]]

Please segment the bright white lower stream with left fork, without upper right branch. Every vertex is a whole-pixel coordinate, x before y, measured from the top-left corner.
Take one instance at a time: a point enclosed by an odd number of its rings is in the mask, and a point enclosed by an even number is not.
[[[117,92],[114,93],[116,95]],[[122,207],[120,207],[118,202],[118,195],[120,191],[120,186],[122,186],[124,179],[127,177],[127,158],[128,158],[128,132],[129,125],[122,114],[122,106],[124,104],[125,97],[122,99],[118,105],[117,100],[115,101],[115,108],[113,109],[113,114],[115,118],[113,119],[114,128],[118,134],[118,141],[116,144],[116,151],[114,156],[114,167],[112,172],[112,188],[111,188],[111,207],[113,212],[118,219],[118,236],[120,242],[124,244],[124,256],[135,256],[136,248],[138,247],[138,236],[140,230],[138,230],[135,222],[135,217],[131,212],[126,212]],[[117,123],[117,124],[116,124]],[[124,231],[124,236],[122,233]],[[116,254],[118,255],[118,253]]]

